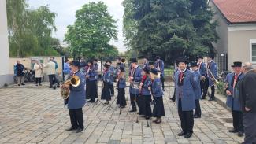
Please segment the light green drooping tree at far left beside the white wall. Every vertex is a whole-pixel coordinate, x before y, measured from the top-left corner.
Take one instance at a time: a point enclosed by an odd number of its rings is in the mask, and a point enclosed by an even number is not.
[[[56,39],[51,37],[56,31],[55,17],[56,13],[51,12],[48,6],[28,9],[25,0],[7,0],[10,56],[59,55],[53,47]]]

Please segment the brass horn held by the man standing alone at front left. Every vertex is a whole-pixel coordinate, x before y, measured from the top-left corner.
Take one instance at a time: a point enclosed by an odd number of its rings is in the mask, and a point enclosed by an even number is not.
[[[80,85],[80,78],[78,76],[71,76],[63,84],[72,85],[72,87],[78,87]],[[70,94],[69,89],[61,88],[61,98],[68,99]]]

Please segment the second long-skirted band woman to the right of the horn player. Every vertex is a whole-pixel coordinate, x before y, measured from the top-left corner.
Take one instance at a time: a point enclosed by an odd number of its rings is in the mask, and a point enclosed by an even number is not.
[[[105,99],[105,104],[108,105],[109,101],[111,100],[110,95],[110,84],[111,84],[111,70],[109,68],[110,66],[108,64],[104,65],[104,71],[103,71],[103,88],[102,88],[102,97],[101,99]]]

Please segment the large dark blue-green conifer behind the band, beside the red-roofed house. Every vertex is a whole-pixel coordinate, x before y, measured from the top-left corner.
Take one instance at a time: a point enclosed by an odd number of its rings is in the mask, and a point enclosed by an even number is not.
[[[211,22],[213,13],[206,0],[132,0],[132,4],[132,18],[138,23],[132,49],[140,54],[158,54],[174,61],[176,57],[195,59],[198,54],[213,51],[217,24]]]

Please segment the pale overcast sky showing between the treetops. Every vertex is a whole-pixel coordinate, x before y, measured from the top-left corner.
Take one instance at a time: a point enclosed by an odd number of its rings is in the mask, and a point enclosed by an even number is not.
[[[28,4],[32,9],[36,9],[39,6],[49,5],[50,10],[58,13],[55,19],[55,25],[58,31],[53,35],[61,41],[63,41],[65,32],[67,31],[67,26],[74,24],[76,20],[75,13],[77,9],[80,9],[87,2],[98,2],[99,0],[28,0]],[[124,52],[126,48],[124,47],[124,38],[122,33],[123,27],[123,13],[124,8],[121,5],[123,0],[101,0],[108,6],[109,13],[113,15],[113,18],[118,20],[118,41],[111,41],[118,47],[118,50]]]

